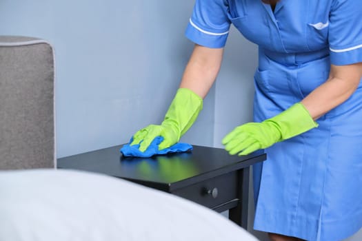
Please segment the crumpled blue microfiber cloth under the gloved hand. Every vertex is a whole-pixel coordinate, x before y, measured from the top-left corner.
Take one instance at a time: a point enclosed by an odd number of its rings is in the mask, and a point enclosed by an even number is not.
[[[123,147],[120,149],[121,153],[125,157],[141,157],[141,158],[148,158],[154,155],[165,155],[169,153],[174,152],[184,152],[184,151],[191,151],[192,145],[188,143],[176,143],[168,148],[162,149],[159,151],[159,144],[162,142],[163,137],[157,136],[152,140],[152,143],[150,146],[144,151],[139,150],[139,144],[137,145],[130,145],[133,141],[133,137],[131,138],[130,142],[128,144],[123,145]]]

